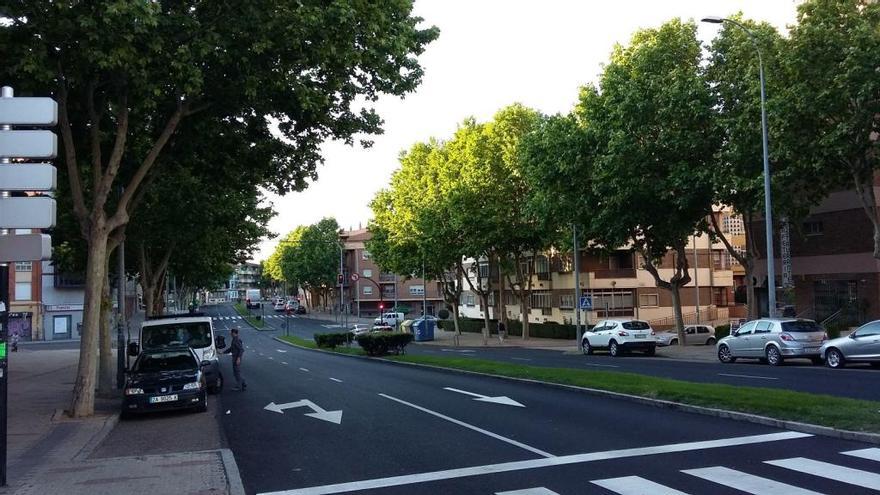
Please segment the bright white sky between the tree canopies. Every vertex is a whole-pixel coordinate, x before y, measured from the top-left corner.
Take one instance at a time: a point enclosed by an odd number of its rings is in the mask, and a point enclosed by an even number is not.
[[[785,30],[797,0],[417,0],[414,15],[440,28],[419,57],[425,70],[415,92],[384,97],[376,110],[385,132],[363,149],[340,142],[323,147],[325,163],[308,189],[268,195],[278,215],[269,229],[284,235],[298,225],[335,217],[344,229],[366,227],[369,202],[386,188],[401,151],[431,137],[446,139],[467,117],[489,120],[522,103],[545,114],[567,113],[578,89],[596,82],[616,43],[633,32],[680,17],[699,20],[742,11]],[[701,23],[709,43],[719,27]],[[277,239],[255,253],[267,258]]]

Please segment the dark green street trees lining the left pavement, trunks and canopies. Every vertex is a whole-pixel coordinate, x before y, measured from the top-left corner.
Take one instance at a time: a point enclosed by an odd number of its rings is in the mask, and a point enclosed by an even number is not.
[[[99,340],[109,356],[102,301],[119,243],[135,246],[148,299],[169,266],[209,282],[265,233],[258,189],[301,190],[323,142],[380,132],[373,102],[416,88],[416,57],[438,35],[408,0],[28,0],[0,13],[0,79],[59,107],[69,222],[54,238],[86,276],[76,417],[94,411]]]

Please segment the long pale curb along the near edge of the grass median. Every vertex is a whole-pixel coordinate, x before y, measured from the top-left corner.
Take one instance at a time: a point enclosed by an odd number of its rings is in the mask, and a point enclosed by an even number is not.
[[[562,383],[544,382],[541,380],[531,380],[528,378],[516,378],[516,377],[510,377],[510,376],[503,376],[503,375],[493,375],[491,373],[481,373],[478,371],[468,371],[468,370],[459,370],[459,369],[454,369],[454,368],[444,368],[441,366],[434,366],[434,365],[430,365],[430,364],[407,363],[407,362],[393,361],[390,359],[383,359],[383,358],[370,358],[367,356],[352,356],[351,354],[339,354],[339,353],[335,353],[335,352],[325,351],[322,349],[310,349],[308,347],[301,347],[296,344],[292,344],[290,342],[280,340],[277,337],[275,338],[275,340],[277,340],[283,344],[287,344],[292,347],[298,347],[300,349],[304,349],[307,351],[319,351],[319,352],[323,352],[326,354],[333,354],[336,356],[345,356],[345,357],[352,357],[352,358],[359,358],[359,359],[369,359],[369,360],[373,360],[373,361],[382,361],[384,363],[394,364],[394,365],[398,365],[398,366],[416,366],[416,367],[421,367],[421,368],[435,369],[435,370],[439,370],[439,371],[443,371],[443,372],[447,372],[447,373],[488,376],[488,377],[492,377],[492,378],[500,378],[503,380],[512,380],[512,381],[518,381],[518,382],[522,382],[522,383],[544,385],[544,386],[561,388],[561,389],[566,389],[566,390],[578,390],[581,392],[586,392],[590,395],[597,395],[597,396],[601,396],[601,397],[610,397],[610,398],[614,398],[614,399],[621,399],[621,400],[626,400],[629,402],[634,402],[637,404],[643,404],[643,405],[648,405],[648,406],[653,406],[653,407],[660,407],[660,408],[665,408],[665,409],[673,409],[673,410],[677,410],[677,411],[702,414],[704,416],[714,416],[717,418],[732,419],[735,421],[745,421],[748,423],[755,423],[755,424],[759,424],[759,425],[763,425],[763,426],[770,426],[770,427],[780,428],[780,429],[784,429],[784,430],[799,431],[801,433],[809,433],[811,435],[821,435],[821,436],[826,436],[826,437],[831,437],[831,438],[839,438],[841,440],[854,440],[854,441],[858,441],[858,442],[865,442],[865,443],[872,443],[875,445],[880,445],[880,434],[878,434],[878,433],[866,433],[866,432],[861,432],[861,431],[839,430],[837,428],[832,428],[830,426],[820,426],[820,425],[814,425],[814,424],[810,424],[810,423],[800,423],[798,421],[775,419],[775,418],[770,418],[767,416],[761,416],[758,414],[750,414],[750,413],[743,413],[743,412],[737,412],[737,411],[728,411],[726,409],[717,409],[717,408],[713,408],[713,407],[694,406],[694,405],[690,405],[690,404],[682,404],[680,402],[672,402],[672,401],[662,400],[662,399],[651,399],[648,397],[641,397],[638,395],[624,394],[624,393],[620,393],[620,392],[611,392],[608,390],[601,390],[601,389],[596,389],[596,388],[578,387],[576,385],[565,385]]]

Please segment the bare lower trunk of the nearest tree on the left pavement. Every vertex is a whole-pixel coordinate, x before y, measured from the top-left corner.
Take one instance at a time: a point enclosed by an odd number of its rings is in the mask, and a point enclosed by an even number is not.
[[[94,222],[93,225],[98,222]],[[86,286],[83,299],[83,327],[79,342],[79,365],[73,385],[70,415],[74,418],[95,413],[95,381],[98,371],[98,333],[101,320],[101,291],[107,278],[107,240],[103,222],[89,231],[87,239]]]

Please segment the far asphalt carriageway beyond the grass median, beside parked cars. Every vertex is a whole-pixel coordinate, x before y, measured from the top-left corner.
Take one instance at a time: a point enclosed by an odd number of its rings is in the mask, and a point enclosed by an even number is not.
[[[231,317],[235,313],[229,308]],[[285,319],[272,311],[267,312],[267,325],[283,335]],[[315,333],[341,331],[332,321],[311,318],[290,318],[294,335],[311,339]],[[219,320],[218,324],[232,324],[236,320]],[[237,321],[240,326],[247,325]],[[575,368],[604,371],[622,371],[663,378],[674,378],[701,383],[725,383],[728,385],[778,388],[816,394],[827,394],[854,399],[880,400],[880,370],[866,366],[853,366],[832,370],[814,366],[807,360],[793,360],[780,367],[771,367],[756,360],[741,360],[733,364],[698,362],[669,359],[662,356],[645,357],[638,353],[612,358],[607,354],[584,356],[555,350],[525,348],[439,347],[413,344],[407,347],[410,354],[444,355],[489,359],[529,366]]]

